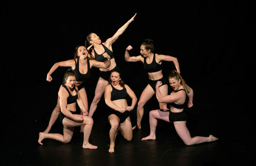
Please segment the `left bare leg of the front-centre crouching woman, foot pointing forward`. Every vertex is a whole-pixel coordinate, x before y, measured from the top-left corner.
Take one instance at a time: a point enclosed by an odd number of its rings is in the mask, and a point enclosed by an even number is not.
[[[114,146],[115,146],[114,142],[116,140],[117,128],[119,126],[120,120],[114,114],[109,115],[108,119],[109,119],[109,123],[111,125],[110,131],[109,131],[109,138],[110,138],[109,152],[113,153],[114,152]]]

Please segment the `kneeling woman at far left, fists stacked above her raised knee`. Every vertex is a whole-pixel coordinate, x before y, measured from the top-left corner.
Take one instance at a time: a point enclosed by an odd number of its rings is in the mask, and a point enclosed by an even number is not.
[[[59,90],[60,98],[60,121],[63,124],[63,135],[61,134],[52,134],[52,133],[39,133],[38,143],[42,145],[42,140],[45,138],[55,139],[63,143],[70,142],[74,128],[76,126],[84,126],[83,133],[83,148],[95,149],[97,146],[94,146],[89,143],[89,136],[91,134],[91,129],[93,127],[93,119],[88,115],[87,110],[84,108],[84,103],[78,88],[75,86],[76,83],[76,73],[68,69],[64,74],[65,84]],[[76,113],[76,101],[80,107],[83,115],[78,115]]]

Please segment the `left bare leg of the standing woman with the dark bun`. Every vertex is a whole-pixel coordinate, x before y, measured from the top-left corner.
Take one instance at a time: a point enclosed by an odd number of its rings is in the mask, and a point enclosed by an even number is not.
[[[138,102],[138,107],[137,107],[137,126],[134,126],[132,128],[135,129],[138,127],[139,129],[141,128],[141,120],[142,116],[144,114],[144,105],[147,103],[147,101],[155,94],[155,91],[152,89],[152,87],[148,84],[146,88],[143,90],[142,94],[140,95],[140,100]]]

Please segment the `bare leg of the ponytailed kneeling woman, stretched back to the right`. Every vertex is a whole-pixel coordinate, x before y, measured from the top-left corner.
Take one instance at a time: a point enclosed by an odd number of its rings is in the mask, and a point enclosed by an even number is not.
[[[199,144],[203,142],[212,142],[212,141],[218,140],[218,138],[214,137],[213,135],[210,135],[208,137],[195,136],[191,138],[191,135],[186,126],[186,121],[174,121],[173,124],[178,135],[186,145],[193,145],[193,144]]]

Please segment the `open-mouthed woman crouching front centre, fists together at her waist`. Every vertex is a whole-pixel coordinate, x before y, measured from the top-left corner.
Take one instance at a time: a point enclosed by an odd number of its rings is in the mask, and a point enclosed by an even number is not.
[[[131,111],[137,102],[137,97],[131,88],[124,84],[120,76],[120,70],[113,70],[110,75],[109,85],[105,88],[105,102],[113,110],[109,112],[109,123],[111,125],[109,131],[110,147],[109,152],[114,152],[114,142],[117,131],[121,130],[121,134],[128,141],[132,140],[132,124],[129,117]],[[128,106],[126,97],[132,98],[132,105]]]

